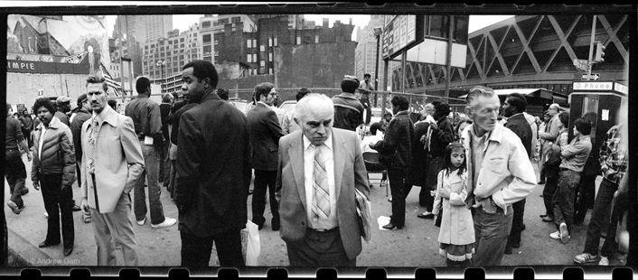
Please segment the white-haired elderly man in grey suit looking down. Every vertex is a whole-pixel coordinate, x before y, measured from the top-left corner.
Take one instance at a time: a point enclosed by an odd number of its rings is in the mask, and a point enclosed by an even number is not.
[[[290,266],[356,266],[361,229],[355,189],[370,187],[358,135],[333,128],[333,102],[308,94],[295,108],[301,131],[279,141],[277,200]]]

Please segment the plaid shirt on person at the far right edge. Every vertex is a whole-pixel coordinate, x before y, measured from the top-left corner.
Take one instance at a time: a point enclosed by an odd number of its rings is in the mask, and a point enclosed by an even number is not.
[[[627,171],[627,146],[621,140],[620,127],[612,126],[600,145],[600,166],[605,179],[619,183]]]

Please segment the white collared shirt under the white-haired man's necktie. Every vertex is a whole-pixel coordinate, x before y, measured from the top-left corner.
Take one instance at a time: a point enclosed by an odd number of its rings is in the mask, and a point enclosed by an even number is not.
[[[337,219],[337,198],[334,187],[334,150],[333,150],[333,135],[328,136],[324,145],[321,145],[322,153],[324,154],[325,172],[328,180],[328,191],[330,192],[330,215],[327,219],[321,219],[315,217],[312,205],[314,196],[313,187],[313,173],[314,173],[314,151],[315,147],[304,135],[304,178],[305,178],[305,210],[306,217],[308,219],[308,226],[313,229],[334,229],[339,225]]]

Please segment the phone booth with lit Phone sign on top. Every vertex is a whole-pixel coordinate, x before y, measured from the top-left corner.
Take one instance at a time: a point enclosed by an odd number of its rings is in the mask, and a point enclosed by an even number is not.
[[[573,89],[569,95],[569,141],[574,138],[574,121],[578,117],[588,120],[592,124],[592,153],[597,160],[607,131],[620,123],[618,108],[627,98],[628,89],[615,81],[575,81]]]

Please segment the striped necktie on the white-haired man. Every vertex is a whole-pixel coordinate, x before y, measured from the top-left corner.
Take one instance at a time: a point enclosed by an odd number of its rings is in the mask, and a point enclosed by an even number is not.
[[[313,170],[313,212],[314,215],[327,219],[330,215],[330,192],[328,192],[328,176],[325,171],[324,154],[320,146],[314,146],[314,170]]]

